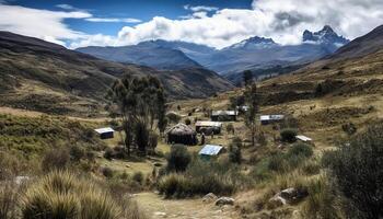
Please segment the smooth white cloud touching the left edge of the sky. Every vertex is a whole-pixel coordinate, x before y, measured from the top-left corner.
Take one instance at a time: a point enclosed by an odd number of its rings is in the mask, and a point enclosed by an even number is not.
[[[63,44],[62,39],[81,39],[86,34],[69,28],[65,19],[86,19],[83,11],[48,11],[19,5],[0,4],[0,30]]]

